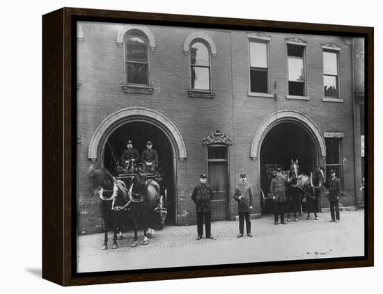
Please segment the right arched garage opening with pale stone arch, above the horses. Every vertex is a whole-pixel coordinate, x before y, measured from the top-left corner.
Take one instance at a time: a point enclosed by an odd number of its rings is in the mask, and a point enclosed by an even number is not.
[[[270,174],[265,165],[290,168],[291,158],[299,160],[300,172],[310,174],[315,165],[324,165],[326,145],[318,126],[299,111],[278,111],[267,117],[253,138],[251,159],[258,162],[260,193],[268,196]],[[261,203],[262,204],[262,203]],[[264,207],[263,213],[272,207]]]

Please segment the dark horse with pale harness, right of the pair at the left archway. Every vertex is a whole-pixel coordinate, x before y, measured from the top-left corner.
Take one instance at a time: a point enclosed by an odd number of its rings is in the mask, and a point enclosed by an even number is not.
[[[148,245],[148,237],[154,237],[154,229],[150,229],[148,223],[152,215],[159,207],[159,184],[153,179],[146,179],[144,174],[137,173],[132,179],[132,186],[129,189],[130,211],[134,221],[134,240],[132,247],[137,245],[137,231],[139,229],[139,218],[141,216],[143,225],[143,245]],[[149,234],[147,234],[149,231]],[[153,231],[153,233],[152,233]]]

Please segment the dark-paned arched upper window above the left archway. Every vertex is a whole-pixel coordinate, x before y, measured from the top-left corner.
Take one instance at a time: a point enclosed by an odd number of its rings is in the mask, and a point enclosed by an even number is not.
[[[141,31],[125,35],[125,73],[127,84],[149,85],[148,38]]]

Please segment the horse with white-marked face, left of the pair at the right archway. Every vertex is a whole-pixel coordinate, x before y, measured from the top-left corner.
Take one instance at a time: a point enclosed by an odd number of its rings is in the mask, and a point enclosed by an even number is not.
[[[287,221],[290,222],[290,209],[292,207],[292,210],[294,211],[294,220],[295,222],[298,221],[297,218],[297,212],[299,212],[299,215],[302,216],[302,210],[301,210],[301,194],[302,191],[299,189],[299,165],[298,165],[298,159],[293,161],[291,159],[291,165],[290,165],[290,171],[288,174],[288,202],[287,202]]]

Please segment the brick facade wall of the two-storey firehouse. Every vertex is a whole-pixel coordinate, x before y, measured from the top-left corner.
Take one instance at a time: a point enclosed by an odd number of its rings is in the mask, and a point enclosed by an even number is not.
[[[178,224],[194,224],[192,188],[201,172],[208,172],[206,146],[201,140],[219,129],[233,140],[228,147],[229,218],[236,213],[233,200],[239,174],[247,172],[256,192],[256,213],[260,212],[260,173],[258,161],[250,158],[250,147],[258,126],[266,117],[283,109],[299,110],[313,120],[320,131],[341,131],[343,138],[344,179],[347,197],[344,205],[354,205],[354,150],[352,136],[351,46],[343,38],[268,33],[270,84],[276,89],[276,100],[249,97],[249,39],[246,32],[212,29],[146,26],[155,36],[156,50],[150,51],[152,95],[123,92],[123,49],[116,44],[120,26],[82,22],[84,42],[78,44],[77,133],[81,135],[78,152],[78,228],[80,234],[100,231],[99,199],[87,188],[88,146],[93,133],[105,117],[132,106],[158,111],[175,126],[185,142],[187,159],[177,158],[175,166]],[[191,98],[189,56],[182,51],[187,36],[196,31],[208,35],[217,47],[217,58],[211,58],[213,99]],[[285,38],[298,37],[307,42],[306,76],[309,101],[286,99],[288,92]],[[341,46],[340,76],[343,103],[322,101],[321,43]],[[323,115],[325,114],[325,116]],[[245,128],[243,126],[246,126]],[[95,163],[100,165],[99,157]]]

